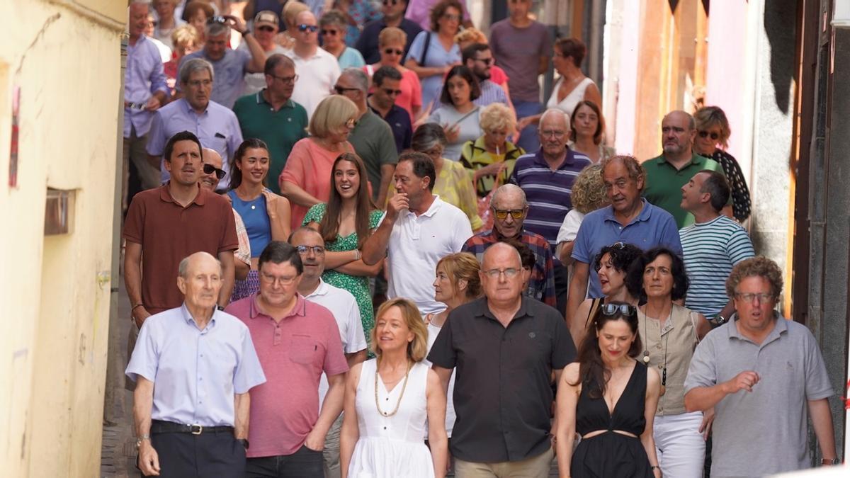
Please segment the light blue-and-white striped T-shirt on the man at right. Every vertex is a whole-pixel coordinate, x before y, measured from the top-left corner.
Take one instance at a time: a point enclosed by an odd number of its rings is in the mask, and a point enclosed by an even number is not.
[[[726,279],[732,267],[756,255],[750,236],[733,219],[718,216],[679,230],[690,287],[685,307],[713,318],[728,303]]]

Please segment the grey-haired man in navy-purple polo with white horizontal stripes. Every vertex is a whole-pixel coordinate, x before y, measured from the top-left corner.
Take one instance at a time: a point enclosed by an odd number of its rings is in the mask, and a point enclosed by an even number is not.
[[[564,111],[556,108],[545,111],[537,131],[540,149],[517,158],[509,181],[521,187],[528,200],[525,229],[543,236],[555,250],[558,230],[564,216],[573,208],[570,195],[575,177],[590,164],[590,158],[567,147],[570,118]],[[566,267],[557,258],[553,262],[558,310],[563,311],[570,283]]]

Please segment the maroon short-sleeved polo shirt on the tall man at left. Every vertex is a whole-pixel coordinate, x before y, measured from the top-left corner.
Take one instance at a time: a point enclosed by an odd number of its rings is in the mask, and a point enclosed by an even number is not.
[[[199,190],[184,208],[161,185],[133,196],[127,209],[121,236],[142,246],[142,304],[151,314],[183,303],[177,276],[184,257],[199,251],[218,257],[239,248],[233,208],[224,197]]]

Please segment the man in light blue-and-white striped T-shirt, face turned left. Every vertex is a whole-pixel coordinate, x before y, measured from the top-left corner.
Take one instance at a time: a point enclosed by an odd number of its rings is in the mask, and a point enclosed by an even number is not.
[[[704,169],[682,187],[683,210],[694,214],[694,224],[679,230],[690,287],[685,306],[723,325],[735,311],[726,294],[732,267],[756,255],[750,236],[734,219],[721,214],[730,188],[723,174]]]

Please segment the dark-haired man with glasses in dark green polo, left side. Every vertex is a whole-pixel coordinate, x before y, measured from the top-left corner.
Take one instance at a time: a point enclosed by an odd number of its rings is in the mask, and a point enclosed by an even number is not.
[[[297,75],[285,54],[273,54],[265,63],[266,88],[236,100],[233,112],[242,137],[263,139],[269,145],[269,177],[266,186],[280,194],[278,178],[286,158],[299,139],[307,137],[307,111],[292,101]]]

